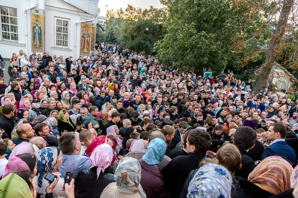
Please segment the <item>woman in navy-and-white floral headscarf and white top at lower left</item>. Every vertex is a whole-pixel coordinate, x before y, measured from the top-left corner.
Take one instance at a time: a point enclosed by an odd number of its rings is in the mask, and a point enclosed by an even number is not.
[[[37,184],[36,192],[42,194],[40,198],[45,198],[46,188],[49,186],[49,182],[44,179],[45,175],[50,172],[56,176],[61,176],[58,171],[58,167],[62,164],[62,154],[57,147],[46,147],[39,151],[36,157],[37,160],[37,175],[34,177],[34,181]],[[64,178],[60,177],[58,183],[53,190],[53,197],[65,197],[65,191],[62,191],[64,185]]]

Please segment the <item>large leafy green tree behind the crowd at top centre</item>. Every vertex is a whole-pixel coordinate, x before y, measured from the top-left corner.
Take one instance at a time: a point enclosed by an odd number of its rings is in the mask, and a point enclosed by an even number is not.
[[[236,24],[226,0],[161,0],[167,7],[165,36],[154,50],[158,61],[181,70],[222,71],[231,52]],[[200,73],[201,73],[200,72]]]

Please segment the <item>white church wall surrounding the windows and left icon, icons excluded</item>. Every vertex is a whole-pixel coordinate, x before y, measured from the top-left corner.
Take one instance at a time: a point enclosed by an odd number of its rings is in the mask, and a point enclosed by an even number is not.
[[[7,39],[7,34],[9,34],[9,32],[5,31],[10,31],[10,28],[14,28],[13,31],[15,31],[15,26],[14,24],[5,24],[9,23],[7,20],[0,20],[1,56],[3,58],[11,58],[12,53],[15,52],[18,54],[20,49],[26,54],[32,54],[31,13],[39,11],[39,13],[43,14],[44,23],[42,29],[43,51],[37,51],[37,53],[49,51],[50,55],[63,55],[64,58],[68,56],[78,57],[80,55],[81,37],[81,26],[78,22],[89,20],[89,23],[96,24],[98,12],[97,4],[98,0],[1,0],[0,7],[3,8],[1,18],[2,16],[7,19],[10,17],[14,20],[17,18],[18,36],[17,41],[11,40],[11,38],[15,38],[15,33],[11,34],[10,40]],[[5,10],[7,10],[7,8],[9,10],[9,14],[12,13],[13,15],[16,9],[17,17],[6,16],[7,13]],[[10,12],[10,10],[12,11]],[[94,18],[95,20],[92,20]],[[64,26],[59,24],[57,20],[64,23],[66,25],[65,27],[67,27],[65,28],[67,29],[67,34],[63,34],[63,38],[58,38],[56,35],[56,30],[58,30],[57,28],[64,28]],[[1,28],[2,24],[7,26],[5,31]],[[58,24],[61,25],[61,27],[58,27]],[[59,39],[61,39],[61,41],[57,41]],[[60,45],[59,42],[63,42],[64,46],[57,46],[57,42],[58,45]]]

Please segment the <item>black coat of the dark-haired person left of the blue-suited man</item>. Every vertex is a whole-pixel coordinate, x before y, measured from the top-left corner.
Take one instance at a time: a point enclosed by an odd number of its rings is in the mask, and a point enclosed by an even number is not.
[[[241,164],[242,167],[240,170],[235,172],[236,177],[242,177],[247,179],[251,171],[256,167],[254,160],[248,155],[248,152],[242,147],[237,146],[241,154]]]

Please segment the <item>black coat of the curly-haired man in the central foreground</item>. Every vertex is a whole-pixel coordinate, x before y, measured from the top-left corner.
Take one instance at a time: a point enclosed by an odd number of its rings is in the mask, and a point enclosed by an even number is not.
[[[199,168],[200,162],[204,158],[205,154],[195,152],[179,155],[161,170],[166,188],[171,191],[171,198],[179,198],[189,173]]]

